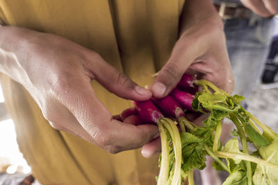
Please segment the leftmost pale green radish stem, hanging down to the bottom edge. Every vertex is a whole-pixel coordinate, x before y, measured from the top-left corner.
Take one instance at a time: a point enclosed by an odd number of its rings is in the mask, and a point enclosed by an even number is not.
[[[157,124],[161,132],[161,170],[159,171],[157,184],[166,185],[169,176],[169,143],[162,123],[158,121]]]

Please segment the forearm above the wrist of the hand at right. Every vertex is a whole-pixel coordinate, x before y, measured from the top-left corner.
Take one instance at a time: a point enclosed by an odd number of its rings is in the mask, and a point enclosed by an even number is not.
[[[222,19],[213,6],[212,0],[187,0],[180,19],[180,35],[197,22],[211,24],[223,29]]]

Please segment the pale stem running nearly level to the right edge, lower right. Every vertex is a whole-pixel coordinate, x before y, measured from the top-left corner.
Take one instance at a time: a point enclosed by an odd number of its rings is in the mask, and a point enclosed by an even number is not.
[[[265,159],[259,159],[257,157],[252,156],[252,155],[246,155],[244,153],[243,154],[238,154],[238,153],[234,153],[234,152],[222,152],[222,151],[215,152],[215,154],[218,157],[250,161],[250,162],[253,162],[253,163],[256,163],[256,164],[260,164],[262,166],[269,166],[271,168],[275,168],[276,170],[278,170],[278,165],[277,164],[272,164],[272,163],[266,161]]]

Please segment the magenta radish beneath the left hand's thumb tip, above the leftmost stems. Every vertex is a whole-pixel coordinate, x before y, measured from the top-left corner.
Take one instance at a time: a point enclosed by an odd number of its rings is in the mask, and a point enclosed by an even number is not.
[[[156,123],[159,118],[163,118],[163,114],[151,100],[134,101],[133,103],[144,123]]]

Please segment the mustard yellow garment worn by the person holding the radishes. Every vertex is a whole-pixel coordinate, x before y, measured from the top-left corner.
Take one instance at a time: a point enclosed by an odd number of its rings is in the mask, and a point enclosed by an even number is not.
[[[178,37],[183,1],[0,0],[0,20],[6,25],[61,35],[97,51],[106,62],[144,86],[152,83],[152,74],[170,56]],[[158,156],[145,159],[139,149],[111,155],[83,139],[54,130],[22,85],[4,75],[1,83],[19,148],[42,184],[156,184]],[[97,82],[92,86],[112,114],[131,106]]]

